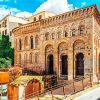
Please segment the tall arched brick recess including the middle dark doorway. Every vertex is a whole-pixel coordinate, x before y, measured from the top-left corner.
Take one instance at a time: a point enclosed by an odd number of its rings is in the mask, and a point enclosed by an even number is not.
[[[68,46],[66,42],[60,42],[58,45],[58,66],[60,77],[68,75]]]

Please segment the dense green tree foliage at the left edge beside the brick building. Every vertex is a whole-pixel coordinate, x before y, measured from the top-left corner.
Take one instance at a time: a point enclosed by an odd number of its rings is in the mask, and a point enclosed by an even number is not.
[[[13,65],[14,49],[11,48],[9,36],[0,36],[0,67],[8,67]]]

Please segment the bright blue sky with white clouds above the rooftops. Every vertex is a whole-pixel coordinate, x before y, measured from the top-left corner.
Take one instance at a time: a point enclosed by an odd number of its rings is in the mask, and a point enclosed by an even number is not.
[[[19,17],[47,10],[56,14],[75,8],[96,4],[100,10],[100,0],[0,0],[0,19],[8,13]]]

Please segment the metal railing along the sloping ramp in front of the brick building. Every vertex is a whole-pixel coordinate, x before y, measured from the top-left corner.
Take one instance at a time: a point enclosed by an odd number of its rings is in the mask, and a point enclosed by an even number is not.
[[[95,84],[100,84],[100,74],[97,75],[97,82]],[[93,75],[87,75],[85,77],[77,76],[73,81],[63,81],[57,85],[45,88],[29,95],[23,96],[21,98],[13,97],[12,100],[41,100],[40,98],[49,95],[52,100],[57,99],[58,95],[62,95],[67,98],[75,93],[83,91],[89,87],[93,86]]]

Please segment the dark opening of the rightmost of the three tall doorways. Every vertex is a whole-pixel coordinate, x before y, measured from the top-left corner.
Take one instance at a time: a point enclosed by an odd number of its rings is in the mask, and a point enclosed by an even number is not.
[[[84,54],[76,55],[76,76],[84,76]]]

